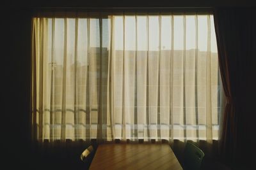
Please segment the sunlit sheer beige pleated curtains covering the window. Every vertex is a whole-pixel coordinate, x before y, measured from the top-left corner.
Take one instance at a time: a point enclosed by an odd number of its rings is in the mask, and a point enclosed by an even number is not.
[[[33,18],[38,141],[218,139],[212,15]]]

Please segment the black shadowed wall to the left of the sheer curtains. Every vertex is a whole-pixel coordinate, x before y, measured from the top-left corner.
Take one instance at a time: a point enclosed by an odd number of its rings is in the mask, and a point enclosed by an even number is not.
[[[3,162],[12,167],[26,164],[29,146],[29,86],[31,15],[24,10],[1,13]],[[4,94],[4,95],[3,95]],[[27,161],[27,160],[26,160]]]

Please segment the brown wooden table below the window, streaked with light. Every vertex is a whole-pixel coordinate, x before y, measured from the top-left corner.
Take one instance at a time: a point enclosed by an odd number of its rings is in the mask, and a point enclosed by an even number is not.
[[[102,144],[90,169],[182,169],[168,144]]]

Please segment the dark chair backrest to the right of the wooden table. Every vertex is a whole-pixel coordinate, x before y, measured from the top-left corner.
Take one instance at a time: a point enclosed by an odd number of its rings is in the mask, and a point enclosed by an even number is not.
[[[193,143],[187,142],[184,151],[185,169],[198,170],[201,167],[204,152]]]

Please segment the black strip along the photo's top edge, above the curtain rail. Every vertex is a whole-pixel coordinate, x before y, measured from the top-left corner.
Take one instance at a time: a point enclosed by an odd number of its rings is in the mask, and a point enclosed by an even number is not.
[[[209,7],[209,6],[252,6],[253,2],[250,0],[24,0],[14,1],[9,0],[4,3],[4,6],[11,7]]]

